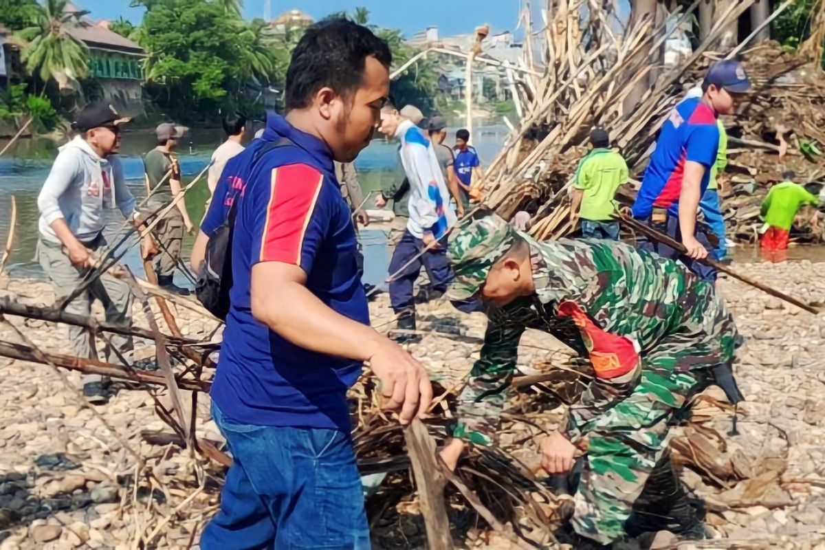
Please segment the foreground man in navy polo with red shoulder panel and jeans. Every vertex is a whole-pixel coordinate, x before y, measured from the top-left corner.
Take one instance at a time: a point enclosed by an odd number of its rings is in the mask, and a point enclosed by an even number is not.
[[[286,73],[287,142],[252,166],[236,198],[231,308],[212,415],[233,465],[205,550],[369,548],[347,389],[369,361],[406,424],[432,397],[427,373],[369,327],[356,234],[333,160],[352,162],[389,94],[391,55],[363,26],[311,26]]]

